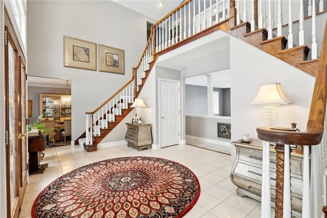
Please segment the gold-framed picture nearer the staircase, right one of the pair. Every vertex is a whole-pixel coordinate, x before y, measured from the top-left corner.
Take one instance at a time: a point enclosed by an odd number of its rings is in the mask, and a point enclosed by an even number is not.
[[[99,44],[99,71],[125,74],[124,50]]]

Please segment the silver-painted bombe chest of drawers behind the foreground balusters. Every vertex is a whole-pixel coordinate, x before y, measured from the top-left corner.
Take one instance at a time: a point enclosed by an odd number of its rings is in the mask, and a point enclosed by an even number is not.
[[[236,159],[230,171],[230,180],[238,188],[236,192],[241,197],[250,197],[261,201],[262,182],[262,145],[261,140],[252,139],[250,143],[232,142],[236,147]],[[302,169],[303,152],[301,147],[292,148],[291,152],[291,197],[292,215],[301,217],[302,211]],[[274,206],[276,189],[276,152],[270,146],[270,190]]]

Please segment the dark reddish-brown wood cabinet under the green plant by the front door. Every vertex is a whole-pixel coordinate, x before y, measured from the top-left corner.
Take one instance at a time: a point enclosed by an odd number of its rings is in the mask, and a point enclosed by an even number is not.
[[[45,150],[45,142],[48,135],[29,137],[29,173],[37,173],[45,170],[48,164],[40,164],[40,151]]]

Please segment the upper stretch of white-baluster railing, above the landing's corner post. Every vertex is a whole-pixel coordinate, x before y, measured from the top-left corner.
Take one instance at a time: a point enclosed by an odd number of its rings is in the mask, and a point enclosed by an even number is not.
[[[312,58],[317,58],[317,35],[316,35],[316,14],[323,11],[324,1],[320,1],[319,7],[316,7],[315,1],[309,1],[308,10],[303,10],[302,0],[298,1],[299,10],[297,6],[292,6],[292,0],[288,1],[249,1],[249,0],[210,0],[210,1],[184,1],[179,7],[169,13],[167,16],[159,20],[153,26],[154,34],[154,48],[155,53],[165,50],[176,43],[187,39],[197,33],[212,27],[222,20],[230,16],[230,5],[236,5],[236,25],[245,21],[251,24],[251,32],[257,29],[266,28],[268,30],[268,39],[275,37],[274,35],[282,36],[284,24],[288,27],[288,48],[293,48],[294,44],[297,46],[311,45]],[[209,4],[208,4],[209,3]],[[319,8],[319,10],[318,10]],[[306,14],[305,14],[306,11]],[[307,12],[308,11],[308,12]],[[295,13],[296,12],[296,13]],[[310,34],[303,29],[304,17],[311,16],[311,30]],[[286,19],[287,18],[287,19]],[[299,20],[299,31],[294,32],[293,22]],[[323,25],[323,24],[322,24]],[[308,31],[308,30],[306,30]],[[295,37],[295,34],[297,35]],[[305,38],[307,36],[307,38]],[[295,42],[293,40],[299,38]],[[319,36],[322,39],[322,36]],[[320,41],[321,43],[321,41]],[[318,45],[318,48],[319,45]]]

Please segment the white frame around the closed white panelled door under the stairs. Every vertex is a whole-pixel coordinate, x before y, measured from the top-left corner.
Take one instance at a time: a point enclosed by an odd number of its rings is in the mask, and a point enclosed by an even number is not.
[[[161,148],[161,81],[166,81],[166,82],[174,82],[178,84],[178,89],[179,89],[179,101],[178,101],[178,110],[179,110],[179,116],[178,116],[178,131],[180,133],[179,135],[179,141],[178,143],[181,143],[181,90],[180,90],[180,85],[181,82],[180,80],[174,80],[174,79],[166,79],[166,78],[158,78],[158,119],[159,119],[159,146]]]

